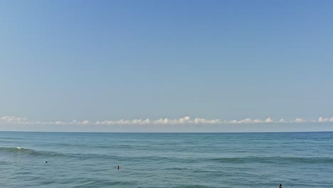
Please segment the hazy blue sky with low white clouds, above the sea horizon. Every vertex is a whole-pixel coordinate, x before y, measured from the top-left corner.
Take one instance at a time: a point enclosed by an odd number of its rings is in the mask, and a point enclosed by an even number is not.
[[[1,0],[0,130],[333,130],[332,9]]]

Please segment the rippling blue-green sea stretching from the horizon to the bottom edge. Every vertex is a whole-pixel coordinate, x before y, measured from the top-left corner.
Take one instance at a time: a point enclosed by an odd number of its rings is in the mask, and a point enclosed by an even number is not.
[[[0,187],[333,187],[333,132],[0,132],[0,169]]]

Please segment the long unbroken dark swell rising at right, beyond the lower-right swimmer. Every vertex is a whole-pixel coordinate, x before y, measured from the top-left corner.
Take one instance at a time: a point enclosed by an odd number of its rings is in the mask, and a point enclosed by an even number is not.
[[[228,162],[228,163],[248,163],[248,162],[260,162],[260,163],[327,163],[333,162],[332,157],[220,157],[213,158],[212,161],[216,162]]]

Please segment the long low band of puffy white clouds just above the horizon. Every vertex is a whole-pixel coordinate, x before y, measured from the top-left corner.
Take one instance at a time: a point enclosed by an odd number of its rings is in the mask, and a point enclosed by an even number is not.
[[[266,119],[251,119],[245,118],[243,120],[208,120],[205,118],[191,118],[189,116],[181,117],[179,119],[159,118],[152,119],[134,119],[134,120],[71,120],[65,121],[33,121],[26,117],[17,116],[2,116],[0,117],[0,124],[34,124],[34,125],[221,125],[221,124],[255,124],[255,123],[300,123],[300,122],[333,122],[333,117],[319,117],[318,120],[304,120],[300,117],[295,120],[285,121],[284,118],[273,119],[268,117]]]

